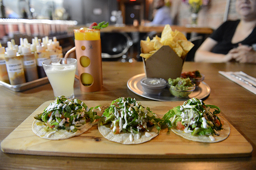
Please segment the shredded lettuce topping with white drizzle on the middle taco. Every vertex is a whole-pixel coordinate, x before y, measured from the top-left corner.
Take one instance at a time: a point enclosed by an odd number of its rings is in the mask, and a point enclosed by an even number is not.
[[[147,126],[150,122],[160,130],[159,122],[155,113],[150,111],[149,107],[143,107],[140,102],[132,98],[118,98],[113,100],[111,106],[105,109],[103,116],[105,117],[104,125],[113,123],[113,126],[122,129],[124,133],[130,132],[137,134],[141,129],[148,130]],[[122,119],[122,120],[121,120]],[[119,127],[119,122],[122,126]]]

